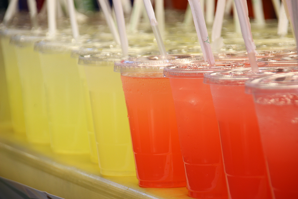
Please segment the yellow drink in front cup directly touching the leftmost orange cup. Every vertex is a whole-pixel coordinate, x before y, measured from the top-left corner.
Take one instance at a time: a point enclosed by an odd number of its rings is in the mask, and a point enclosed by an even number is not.
[[[84,65],[80,58],[79,64]],[[100,173],[136,175],[122,83],[113,67],[114,60],[84,65]]]

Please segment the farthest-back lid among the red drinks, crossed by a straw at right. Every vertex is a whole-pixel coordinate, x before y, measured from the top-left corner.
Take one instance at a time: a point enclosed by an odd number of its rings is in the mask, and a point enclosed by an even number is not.
[[[265,58],[279,55],[293,55],[297,54],[297,51],[294,50],[257,50],[256,58]],[[238,51],[232,53],[219,53],[216,58],[221,59],[248,59],[247,51]]]

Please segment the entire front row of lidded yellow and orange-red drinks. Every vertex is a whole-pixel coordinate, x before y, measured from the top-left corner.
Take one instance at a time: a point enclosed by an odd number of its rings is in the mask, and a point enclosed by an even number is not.
[[[164,60],[150,44],[123,58],[107,39],[9,31],[13,130],[29,142],[91,153],[102,175],[187,186],[193,198],[297,197],[297,51],[259,51],[255,73],[243,52],[209,66],[197,55]]]

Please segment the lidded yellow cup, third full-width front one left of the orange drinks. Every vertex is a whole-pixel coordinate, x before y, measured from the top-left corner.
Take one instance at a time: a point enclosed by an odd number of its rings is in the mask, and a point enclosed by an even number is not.
[[[39,144],[50,143],[44,81],[38,52],[34,51],[34,42],[44,38],[45,34],[28,34],[13,36],[10,41],[15,46],[21,81],[26,137]]]

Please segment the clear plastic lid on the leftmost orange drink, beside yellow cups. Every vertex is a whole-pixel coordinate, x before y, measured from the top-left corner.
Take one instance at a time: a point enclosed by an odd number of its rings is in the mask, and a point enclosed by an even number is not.
[[[201,56],[195,55],[168,55],[168,59],[163,59],[161,55],[149,55],[140,57],[130,57],[120,62],[115,62],[115,72],[126,73],[146,73],[163,72],[164,67],[173,63],[190,63],[202,60]]]

